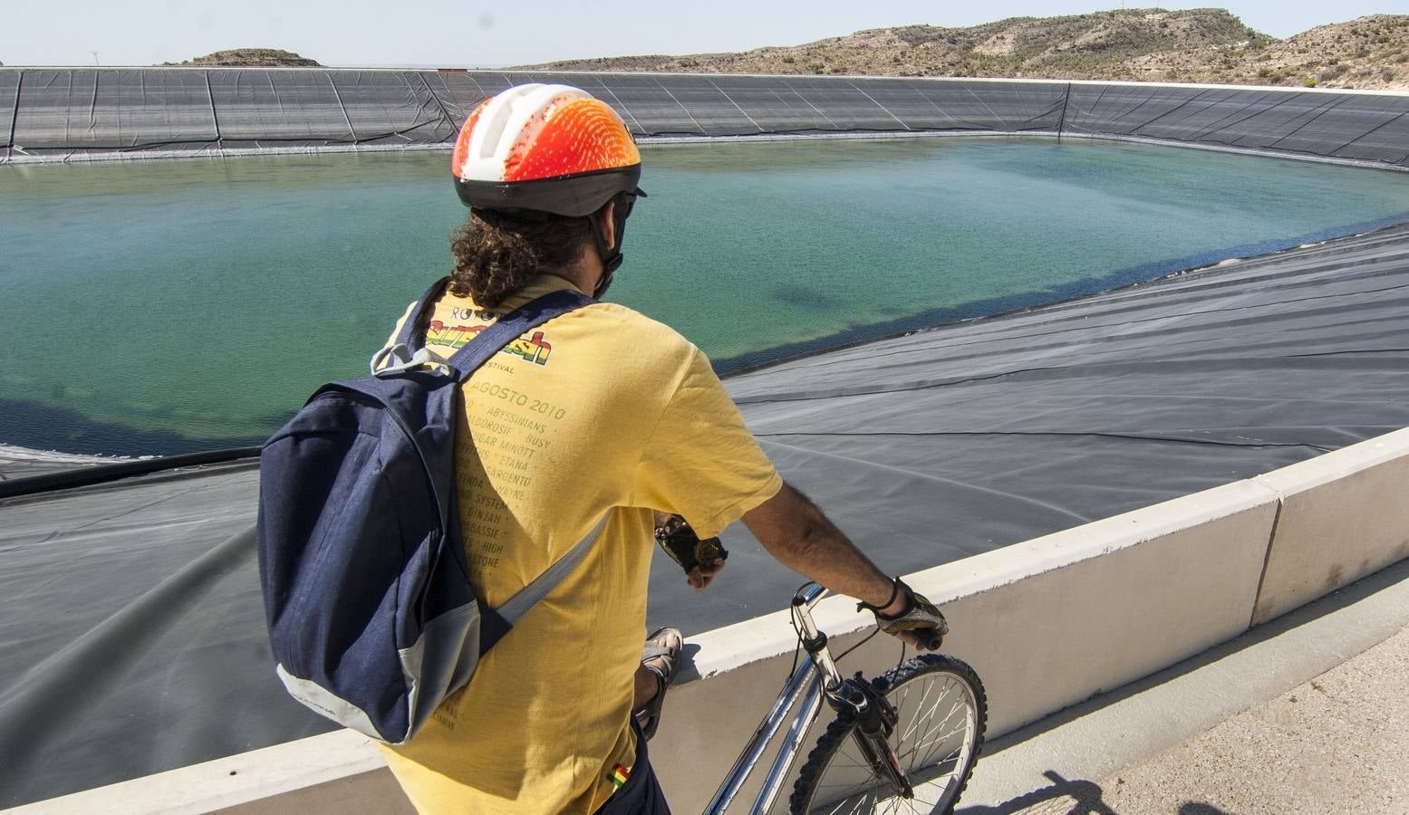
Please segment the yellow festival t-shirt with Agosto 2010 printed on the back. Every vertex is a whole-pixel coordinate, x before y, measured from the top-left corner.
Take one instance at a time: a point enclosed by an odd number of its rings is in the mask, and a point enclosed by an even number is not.
[[[568,289],[538,276],[496,311]],[[449,356],[496,315],[445,296],[426,329]],[[403,317],[403,321],[406,317]],[[395,334],[393,334],[395,336]],[[421,812],[596,811],[630,769],[645,639],[651,510],[717,535],[782,486],[709,359],[630,308],[597,303],[495,355],[455,429],[471,580],[497,607],[606,515],[586,559],[479,663],[416,738],[383,747]]]

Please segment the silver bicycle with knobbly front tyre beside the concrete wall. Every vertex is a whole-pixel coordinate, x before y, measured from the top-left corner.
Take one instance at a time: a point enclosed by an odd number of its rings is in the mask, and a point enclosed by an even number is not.
[[[988,719],[978,674],[954,657],[921,653],[869,681],[859,671],[843,677],[827,650],[827,635],[812,619],[812,607],[826,593],[810,583],[793,594],[793,628],[807,657],[792,671],[704,814],[728,808],[800,701],[750,809],[752,815],[769,812],[823,700],[837,718],[797,773],[788,800],[790,814],[952,812],[974,771]],[[934,640],[937,646],[938,635]]]

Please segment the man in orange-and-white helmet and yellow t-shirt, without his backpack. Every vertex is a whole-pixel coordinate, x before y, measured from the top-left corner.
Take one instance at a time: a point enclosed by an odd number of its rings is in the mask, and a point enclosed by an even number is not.
[[[606,293],[645,196],[616,111],[568,86],[511,87],[466,118],[452,168],[469,221],[452,236],[448,291],[417,327],[431,352],[448,358],[545,293]],[[506,346],[461,396],[458,507],[488,605],[602,531],[464,691],[383,747],[423,812],[668,811],[645,740],[682,642],[661,629],[641,647],[658,525],[686,541],[675,549],[696,590],[723,557],[696,562],[689,543],[743,518],[774,557],[861,600],[886,632],[917,645],[943,631],[929,601],[782,481],[709,359],[659,322],[613,303],[579,308]]]

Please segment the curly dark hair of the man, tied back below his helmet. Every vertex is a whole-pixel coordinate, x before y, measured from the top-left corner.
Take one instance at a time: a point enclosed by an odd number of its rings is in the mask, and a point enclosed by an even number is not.
[[[471,210],[469,221],[451,234],[449,291],[493,308],[534,274],[576,263],[590,244],[588,218]]]

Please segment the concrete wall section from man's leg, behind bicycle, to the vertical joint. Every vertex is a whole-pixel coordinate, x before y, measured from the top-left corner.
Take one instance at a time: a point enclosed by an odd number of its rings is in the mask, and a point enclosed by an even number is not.
[[[983,680],[989,733],[999,735],[1247,629],[1275,515],[1275,493],[1240,481],[906,580],[943,605],[951,626],[944,652]],[[819,605],[817,622],[840,653],[871,617],[836,597]],[[671,691],[662,747],[651,757],[683,812],[709,801],[782,687],[796,646],[786,612],[692,642],[706,680]],[[875,676],[899,655],[896,640],[876,638],[843,670]]]

